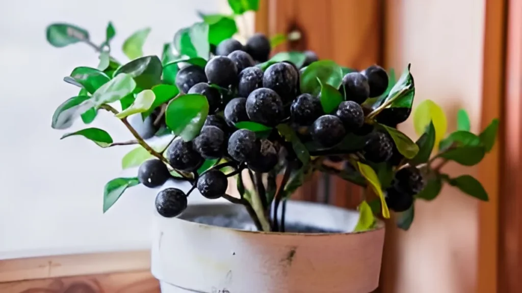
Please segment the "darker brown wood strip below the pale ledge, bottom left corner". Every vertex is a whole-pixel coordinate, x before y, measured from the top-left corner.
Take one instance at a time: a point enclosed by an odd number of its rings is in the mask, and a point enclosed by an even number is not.
[[[159,293],[149,271],[0,283],[2,293]]]

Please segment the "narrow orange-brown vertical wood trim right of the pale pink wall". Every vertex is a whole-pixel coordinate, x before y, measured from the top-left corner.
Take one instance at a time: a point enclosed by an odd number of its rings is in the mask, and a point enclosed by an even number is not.
[[[516,1],[515,1],[516,2]],[[505,63],[505,0],[486,0],[482,76],[481,129],[493,118],[502,118]],[[517,102],[518,104],[518,102]],[[503,119],[501,119],[501,124]],[[479,243],[477,292],[508,292],[500,289],[499,278],[499,201],[502,132],[500,139],[479,165],[479,180],[490,201],[479,203]],[[503,196],[507,195],[506,193]],[[519,277],[519,276],[518,276]],[[509,291],[515,292],[515,291]]]

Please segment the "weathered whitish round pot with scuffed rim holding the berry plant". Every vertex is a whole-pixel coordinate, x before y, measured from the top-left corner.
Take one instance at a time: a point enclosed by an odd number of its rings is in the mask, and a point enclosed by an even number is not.
[[[163,293],[367,293],[378,286],[384,224],[351,233],[355,211],[289,201],[286,223],[332,234],[262,233],[187,221],[247,216],[241,205],[193,204],[179,218],[154,216],[152,274]]]

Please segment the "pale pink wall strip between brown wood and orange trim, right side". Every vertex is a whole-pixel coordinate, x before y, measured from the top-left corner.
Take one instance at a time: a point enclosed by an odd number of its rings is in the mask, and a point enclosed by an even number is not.
[[[411,63],[417,105],[440,104],[455,130],[464,107],[478,131],[481,109],[484,0],[388,0],[387,65]],[[414,136],[411,118],[401,130]],[[448,164],[451,175],[476,175],[476,168]],[[477,201],[446,187],[432,202],[416,203],[407,232],[398,231],[395,292],[467,293],[474,291],[477,268]],[[388,289],[389,290],[389,289]]]

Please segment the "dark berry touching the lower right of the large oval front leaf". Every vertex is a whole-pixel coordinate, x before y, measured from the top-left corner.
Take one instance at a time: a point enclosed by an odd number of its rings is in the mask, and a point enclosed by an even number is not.
[[[216,126],[201,128],[199,135],[192,141],[194,149],[208,159],[220,158],[225,150],[226,140],[223,130]]]

